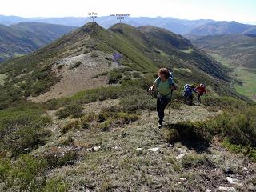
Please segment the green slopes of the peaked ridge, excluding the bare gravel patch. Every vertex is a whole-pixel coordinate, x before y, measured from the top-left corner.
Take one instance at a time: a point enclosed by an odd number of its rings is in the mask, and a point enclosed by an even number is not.
[[[113,30],[114,28],[117,30]],[[118,28],[121,28],[123,34],[118,32]],[[155,74],[159,66],[189,68],[192,73],[182,70],[175,74],[180,86],[186,82],[205,82],[218,94],[234,94],[241,98],[224,82],[229,81],[229,78],[217,62],[207,58],[206,54],[194,47],[190,54],[182,52],[189,50],[191,46],[185,38],[160,28],[146,31],[117,25],[112,30],[104,30],[95,23],[88,23],[34,54],[3,63],[0,66],[0,74],[8,73],[8,78],[5,87],[2,87],[2,101],[8,105],[14,95],[23,98],[45,92],[58,82],[58,78],[50,72],[55,62],[92,50],[102,50],[110,54],[119,52],[124,56],[121,61],[123,65],[143,73]],[[159,54],[159,51],[152,47],[166,54]]]

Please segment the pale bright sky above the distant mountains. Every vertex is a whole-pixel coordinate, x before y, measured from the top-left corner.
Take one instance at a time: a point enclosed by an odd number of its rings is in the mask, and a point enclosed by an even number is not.
[[[1,0],[0,6],[0,14],[23,17],[85,17],[90,11],[256,24],[255,0]]]

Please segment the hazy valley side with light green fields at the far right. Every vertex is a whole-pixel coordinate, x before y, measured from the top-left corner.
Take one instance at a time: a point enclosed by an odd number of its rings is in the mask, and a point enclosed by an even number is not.
[[[239,93],[255,99],[256,38],[243,34],[199,37],[192,40],[218,62],[230,68],[230,74],[240,83],[234,83]]]

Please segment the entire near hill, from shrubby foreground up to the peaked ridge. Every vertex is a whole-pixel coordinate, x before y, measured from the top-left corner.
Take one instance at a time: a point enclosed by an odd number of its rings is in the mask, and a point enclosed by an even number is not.
[[[162,66],[178,90],[158,129],[147,90]],[[229,70],[167,30],[94,22],[3,62],[0,191],[254,191],[256,107]],[[202,105],[186,105],[182,87],[200,82]]]

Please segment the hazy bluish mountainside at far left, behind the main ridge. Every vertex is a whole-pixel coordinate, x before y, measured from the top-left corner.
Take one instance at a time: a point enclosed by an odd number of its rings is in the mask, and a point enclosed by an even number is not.
[[[30,54],[76,28],[38,22],[0,25],[0,62],[7,58]]]

